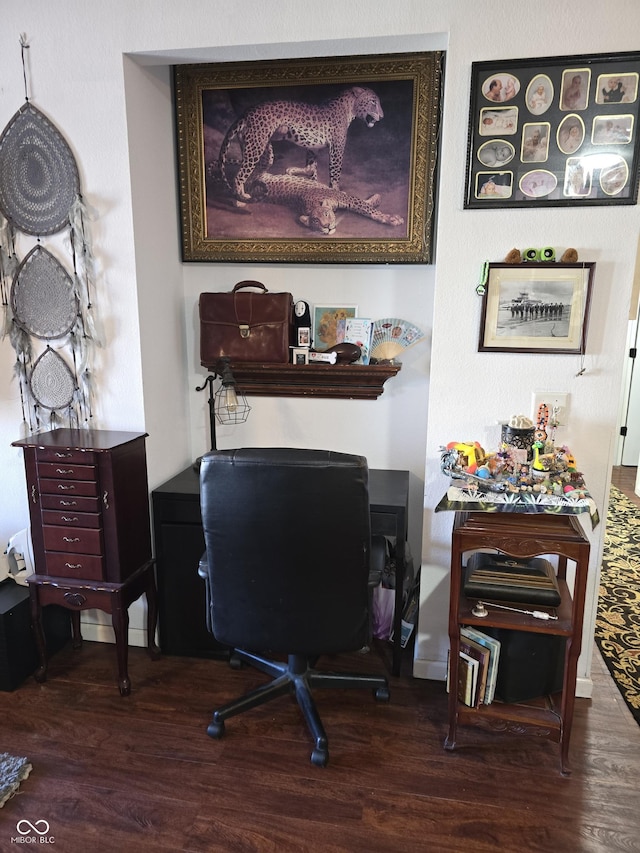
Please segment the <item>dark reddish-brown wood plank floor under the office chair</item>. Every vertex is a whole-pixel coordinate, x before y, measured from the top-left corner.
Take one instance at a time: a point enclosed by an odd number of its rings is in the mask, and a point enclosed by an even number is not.
[[[329,663],[386,671],[385,651]],[[14,849],[19,821],[44,820],[58,853],[640,851],[640,727],[599,655],[593,699],[576,701],[568,778],[547,741],[464,728],[446,752],[444,685],[413,679],[408,658],[389,704],[317,694],[330,744],[318,768],[292,699],[207,736],[216,704],[264,680],[255,670],[134,648],[122,698],[113,646],[68,646],[45,684],[0,693],[0,752],[33,764],[0,810],[0,850]]]

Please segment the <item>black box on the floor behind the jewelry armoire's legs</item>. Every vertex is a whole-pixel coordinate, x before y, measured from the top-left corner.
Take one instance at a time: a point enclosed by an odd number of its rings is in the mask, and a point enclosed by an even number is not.
[[[47,605],[42,608],[42,624],[50,657],[71,639],[70,611]],[[29,590],[8,578],[0,583],[0,690],[15,690],[39,665]]]

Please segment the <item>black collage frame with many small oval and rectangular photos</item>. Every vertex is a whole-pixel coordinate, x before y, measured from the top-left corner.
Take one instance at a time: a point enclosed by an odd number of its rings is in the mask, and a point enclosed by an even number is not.
[[[640,53],[474,62],[465,208],[635,204]]]

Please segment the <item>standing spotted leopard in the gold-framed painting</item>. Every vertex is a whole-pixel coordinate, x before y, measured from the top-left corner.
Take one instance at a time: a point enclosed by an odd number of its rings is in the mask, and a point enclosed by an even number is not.
[[[306,148],[307,163],[311,152],[329,148],[329,186],[340,187],[342,161],[347,143],[347,131],[356,119],[367,127],[384,117],[380,99],[371,89],[352,86],[336,98],[323,104],[297,101],[268,101],[247,110],[229,128],[218,155],[217,169],[236,199],[248,201],[247,183],[265,153],[272,159],[273,141],[286,140]],[[229,152],[234,142],[239,144],[242,157],[233,178],[227,175],[231,162]]]

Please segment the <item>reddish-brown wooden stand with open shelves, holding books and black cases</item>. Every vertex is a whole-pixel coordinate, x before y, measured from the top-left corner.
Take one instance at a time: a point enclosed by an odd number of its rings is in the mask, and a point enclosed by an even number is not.
[[[544,621],[522,613],[496,610],[474,616],[476,600],[462,590],[463,555],[477,550],[499,551],[512,557],[541,554],[558,556],[558,585],[561,603],[557,620]],[[582,622],[589,566],[589,540],[576,516],[517,512],[457,512],[451,549],[451,594],[449,606],[450,684],[458,683],[460,626],[480,631],[485,627],[506,628],[566,638],[564,678],[561,693],[546,697],[545,703],[509,704],[494,701],[472,708],[458,701],[456,689],[449,692],[449,734],[445,748],[456,745],[458,724],[481,726],[494,731],[547,738],[560,744],[563,775],[568,775],[569,738],[575,704],[578,657],[582,645]],[[567,585],[567,560],[575,565],[573,590]],[[520,606],[520,605],[516,605]],[[526,608],[523,609],[534,609]]]

